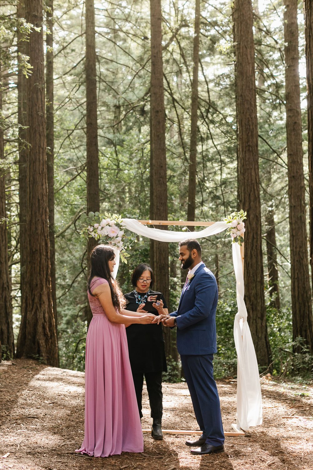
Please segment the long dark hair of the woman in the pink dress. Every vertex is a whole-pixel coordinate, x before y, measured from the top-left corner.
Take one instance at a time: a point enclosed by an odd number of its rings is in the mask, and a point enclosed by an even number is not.
[[[90,273],[87,281],[87,287],[89,293],[92,295],[92,291],[90,290],[90,284],[92,282],[93,277],[102,277],[106,279],[109,283],[110,290],[111,290],[111,297],[113,305],[120,310],[124,308],[126,305],[125,298],[122,294],[122,290],[120,289],[118,282],[112,277],[112,273],[110,271],[109,261],[112,261],[115,258],[115,253],[113,248],[107,245],[97,245],[94,247],[90,254]]]

